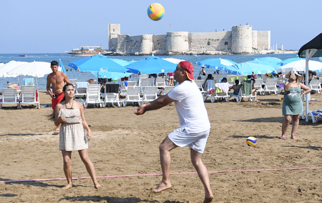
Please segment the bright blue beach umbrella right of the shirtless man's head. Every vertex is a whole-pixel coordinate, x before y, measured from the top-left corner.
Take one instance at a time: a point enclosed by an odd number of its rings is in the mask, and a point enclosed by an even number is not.
[[[68,66],[72,67],[77,71],[102,71],[102,72],[113,72],[113,73],[126,73],[128,69],[115,63],[106,56],[97,54],[91,57],[81,58],[70,62]]]

